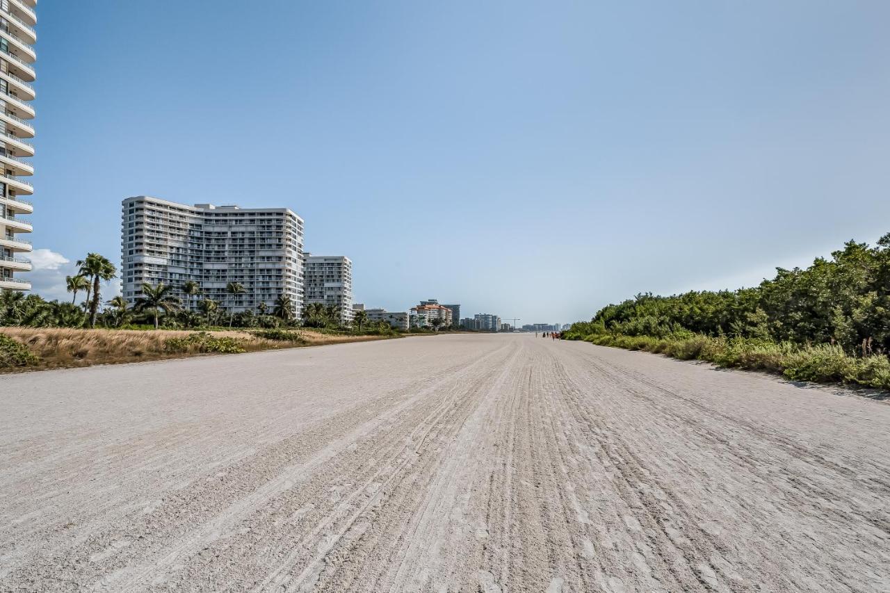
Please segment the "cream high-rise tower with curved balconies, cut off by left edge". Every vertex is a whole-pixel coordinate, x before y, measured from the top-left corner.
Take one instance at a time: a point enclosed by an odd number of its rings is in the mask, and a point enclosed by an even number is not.
[[[34,100],[36,53],[31,49],[37,41],[36,0],[0,0],[0,291],[30,290],[31,284],[20,272],[30,272],[31,263],[24,257],[31,244],[20,239],[31,232],[31,223],[21,215],[34,212],[22,196],[34,193],[34,187],[22,177],[34,175],[34,167],[23,157],[34,156],[34,146],[27,138],[34,137]]]

